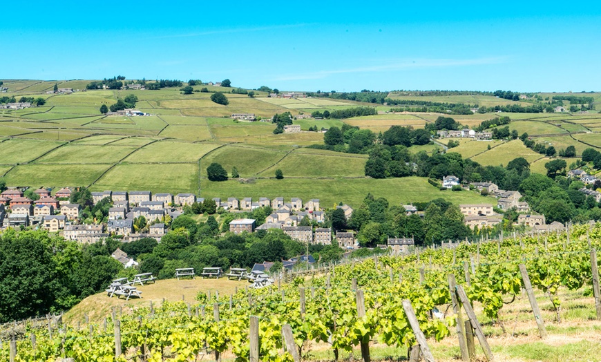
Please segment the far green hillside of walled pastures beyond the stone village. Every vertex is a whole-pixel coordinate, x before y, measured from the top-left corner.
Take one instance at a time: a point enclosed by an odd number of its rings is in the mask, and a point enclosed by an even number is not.
[[[313,111],[335,111],[369,104],[345,99],[316,97],[268,98],[256,91],[256,97],[228,94],[229,105],[213,103],[211,92],[227,90],[206,86],[209,93],[182,95],[179,87],[161,90],[88,90],[72,94],[48,94],[59,88],[85,88],[88,81],[41,82],[6,80],[10,97],[42,97],[44,106],[20,110],[0,110],[0,175],[10,186],[63,187],[84,185],[94,191],[105,189],[149,189],[153,192],[195,192],[202,197],[274,197],[298,196],[321,198],[324,204],[358,203],[368,192],[391,202],[425,201],[443,196],[453,202],[478,202],[475,194],[443,193],[425,179],[365,178],[365,155],[336,153],[304,146],[323,144],[323,133],[302,132],[274,135],[274,124],[238,122],[232,113],[255,113],[272,117],[289,111],[292,115]],[[204,86],[203,86],[204,87]],[[200,86],[193,87],[198,90]],[[136,109],[150,113],[146,117],[106,116],[99,112],[127,95],[136,95]],[[589,94],[587,94],[589,95]],[[601,93],[591,93],[598,99]],[[486,106],[522,104],[492,96],[395,95],[394,99],[428,102],[479,103]],[[379,111],[390,106],[377,106]],[[311,126],[329,128],[343,123],[369,128],[375,133],[390,126],[423,128],[434,122],[438,113],[397,113],[352,117],[345,120],[295,120],[303,130]],[[557,149],[574,145],[577,155],[586,147],[601,148],[601,117],[591,113],[503,113],[517,121],[511,129],[528,133],[537,142]],[[477,126],[495,113],[453,115],[465,126]],[[448,140],[441,140],[448,142]],[[492,146],[490,149],[487,146]],[[412,146],[410,151],[431,152],[435,145]],[[524,157],[533,170],[544,171],[544,156],[526,149],[519,141],[465,142],[453,151],[483,165],[507,164]],[[230,172],[236,166],[242,178],[237,181],[210,182],[206,167],[219,162]],[[281,169],[284,180],[274,180]],[[135,177],[133,177],[135,175]],[[267,191],[268,190],[268,191]],[[402,190],[399,192],[399,190]],[[490,200],[490,199],[488,199]]]

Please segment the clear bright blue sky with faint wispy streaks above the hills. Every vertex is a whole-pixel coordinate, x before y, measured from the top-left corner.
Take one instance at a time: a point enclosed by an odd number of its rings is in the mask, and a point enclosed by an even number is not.
[[[0,79],[280,90],[601,90],[601,6],[553,1],[19,1]]]

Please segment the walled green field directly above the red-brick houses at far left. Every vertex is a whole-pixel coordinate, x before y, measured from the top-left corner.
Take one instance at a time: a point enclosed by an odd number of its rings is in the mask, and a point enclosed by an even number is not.
[[[87,186],[96,180],[107,164],[24,164],[15,166],[4,176],[6,184],[46,187]],[[131,177],[131,175],[130,175]]]

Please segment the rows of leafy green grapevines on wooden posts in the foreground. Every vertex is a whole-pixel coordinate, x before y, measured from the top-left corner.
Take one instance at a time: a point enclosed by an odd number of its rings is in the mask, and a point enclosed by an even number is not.
[[[263,289],[200,294],[194,304],[114,310],[104,323],[30,325],[3,336],[0,360],[304,361],[319,360],[312,348],[325,345],[328,360],[347,359],[360,346],[370,361],[377,343],[406,349],[394,360],[435,361],[430,347],[443,340],[457,345],[457,359],[493,360],[490,325],[509,333],[501,314],[524,295],[528,308],[519,314],[537,323],[539,339],[550,323],[562,323],[562,305],[574,293],[589,298],[589,309],[595,305],[590,319],[601,318],[599,247],[601,227],[575,225],[380,256]],[[553,321],[542,318],[535,293],[551,303]]]

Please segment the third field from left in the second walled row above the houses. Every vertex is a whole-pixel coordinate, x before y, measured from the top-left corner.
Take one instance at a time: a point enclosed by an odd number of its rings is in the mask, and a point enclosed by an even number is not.
[[[158,141],[144,146],[125,162],[198,162],[219,144]]]

